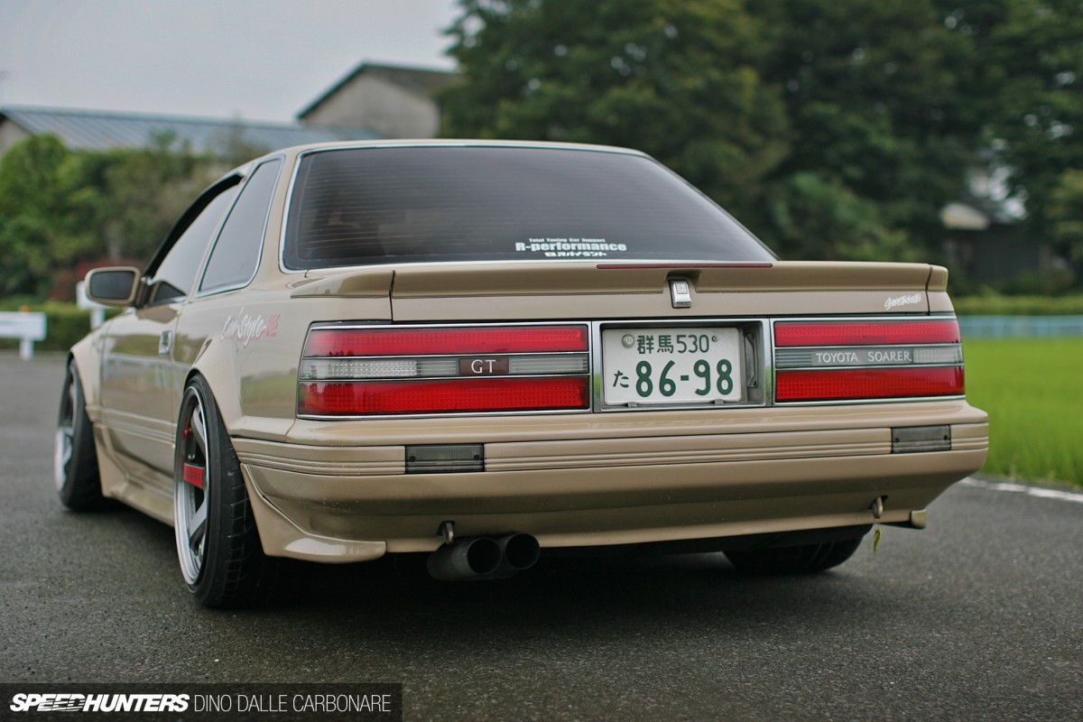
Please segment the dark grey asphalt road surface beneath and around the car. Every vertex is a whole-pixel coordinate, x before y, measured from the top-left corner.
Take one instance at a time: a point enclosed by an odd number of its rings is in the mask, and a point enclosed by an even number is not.
[[[0,356],[0,681],[402,682],[410,720],[1083,719],[1083,503],[956,485],[925,531],[810,578],[319,567],[301,601],[207,612],[171,529],[62,510],[62,377]]]

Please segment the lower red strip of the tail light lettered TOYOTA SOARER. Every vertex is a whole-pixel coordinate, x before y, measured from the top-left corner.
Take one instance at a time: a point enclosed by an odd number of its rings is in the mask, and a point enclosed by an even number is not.
[[[963,395],[963,367],[779,371],[780,402]]]

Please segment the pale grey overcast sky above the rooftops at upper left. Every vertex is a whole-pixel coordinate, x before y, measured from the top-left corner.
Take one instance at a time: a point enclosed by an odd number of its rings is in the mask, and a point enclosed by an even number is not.
[[[0,0],[0,105],[290,120],[362,61],[451,68],[455,0]]]

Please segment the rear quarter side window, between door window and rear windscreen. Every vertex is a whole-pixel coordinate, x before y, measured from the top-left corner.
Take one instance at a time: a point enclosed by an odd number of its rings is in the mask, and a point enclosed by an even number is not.
[[[260,261],[263,229],[280,167],[280,160],[269,160],[252,173],[210,252],[200,291],[236,288],[251,280]]]

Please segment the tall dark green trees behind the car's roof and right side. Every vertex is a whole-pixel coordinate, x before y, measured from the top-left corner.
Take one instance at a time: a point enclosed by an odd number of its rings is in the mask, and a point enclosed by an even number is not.
[[[936,260],[980,162],[1083,270],[1078,0],[460,4],[446,135],[641,148],[784,258]]]

